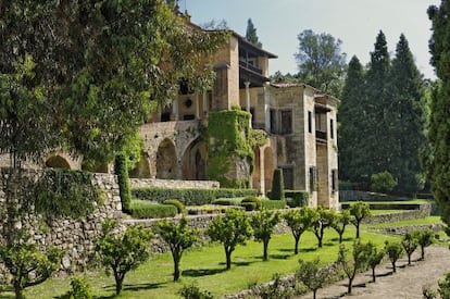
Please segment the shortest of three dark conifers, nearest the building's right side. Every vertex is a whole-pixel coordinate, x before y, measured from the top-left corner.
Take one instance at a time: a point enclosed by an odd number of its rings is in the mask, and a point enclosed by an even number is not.
[[[361,104],[363,86],[364,70],[360,60],[353,57],[348,66],[338,110],[339,177],[345,180],[358,182],[361,165],[365,163],[360,148],[354,146],[364,141],[360,129],[364,122],[364,107]]]

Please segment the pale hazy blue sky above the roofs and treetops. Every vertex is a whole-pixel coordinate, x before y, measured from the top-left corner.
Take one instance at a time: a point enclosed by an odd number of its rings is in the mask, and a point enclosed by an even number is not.
[[[432,23],[426,11],[439,3],[439,0],[180,0],[179,7],[187,10],[196,24],[225,20],[230,29],[242,36],[251,18],[263,49],[278,55],[270,61],[271,74],[298,72],[293,54],[298,52],[297,36],[304,29],[339,38],[347,61],[357,55],[363,64],[370,61],[375,38],[383,30],[391,57],[403,33],[421,73],[426,78],[436,78],[429,65]]]

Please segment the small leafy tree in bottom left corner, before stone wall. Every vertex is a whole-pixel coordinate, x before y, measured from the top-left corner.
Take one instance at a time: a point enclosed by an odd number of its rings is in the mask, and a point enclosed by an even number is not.
[[[0,261],[11,274],[11,284],[15,298],[24,298],[23,290],[43,283],[60,267],[63,252],[54,247],[47,252],[32,244],[29,236],[23,231],[15,241],[0,246]]]

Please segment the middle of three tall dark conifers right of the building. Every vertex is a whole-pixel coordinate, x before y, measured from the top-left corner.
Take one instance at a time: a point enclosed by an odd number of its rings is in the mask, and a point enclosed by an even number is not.
[[[387,109],[390,100],[388,94],[388,75],[390,68],[386,37],[383,32],[376,37],[375,49],[371,53],[371,63],[366,74],[365,97],[362,97],[364,122],[360,129],[364,140],[353,145],[361,147],[365,155],[361,164],[361,175],[370,179],[374,173],[389,169],[391,161],[388,134]]]

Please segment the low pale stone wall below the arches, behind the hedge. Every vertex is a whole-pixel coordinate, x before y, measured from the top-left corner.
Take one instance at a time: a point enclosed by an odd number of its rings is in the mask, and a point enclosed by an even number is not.
[[[158,178],[130,178],[132,188],[158,187],[167,189],[216,189],[220,184],[216,180],[180,180]]]

